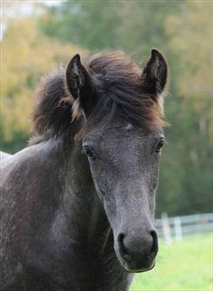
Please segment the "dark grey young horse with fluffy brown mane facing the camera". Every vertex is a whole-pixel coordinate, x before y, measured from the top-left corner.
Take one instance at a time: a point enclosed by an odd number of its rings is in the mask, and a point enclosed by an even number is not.
[[[34,137],[1,167],[1,290],[129,290],[155,266],[168,66],[75,55],[41,80]]]

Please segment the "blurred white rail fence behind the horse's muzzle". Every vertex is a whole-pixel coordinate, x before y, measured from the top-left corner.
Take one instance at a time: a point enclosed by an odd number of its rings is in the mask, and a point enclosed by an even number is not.
[[[181,241],[183,235],[206,233],[213,230],[213,213],[168,217],[162,213],[162,218],[155,221],[155,228],[165,243],[172,240]]]

